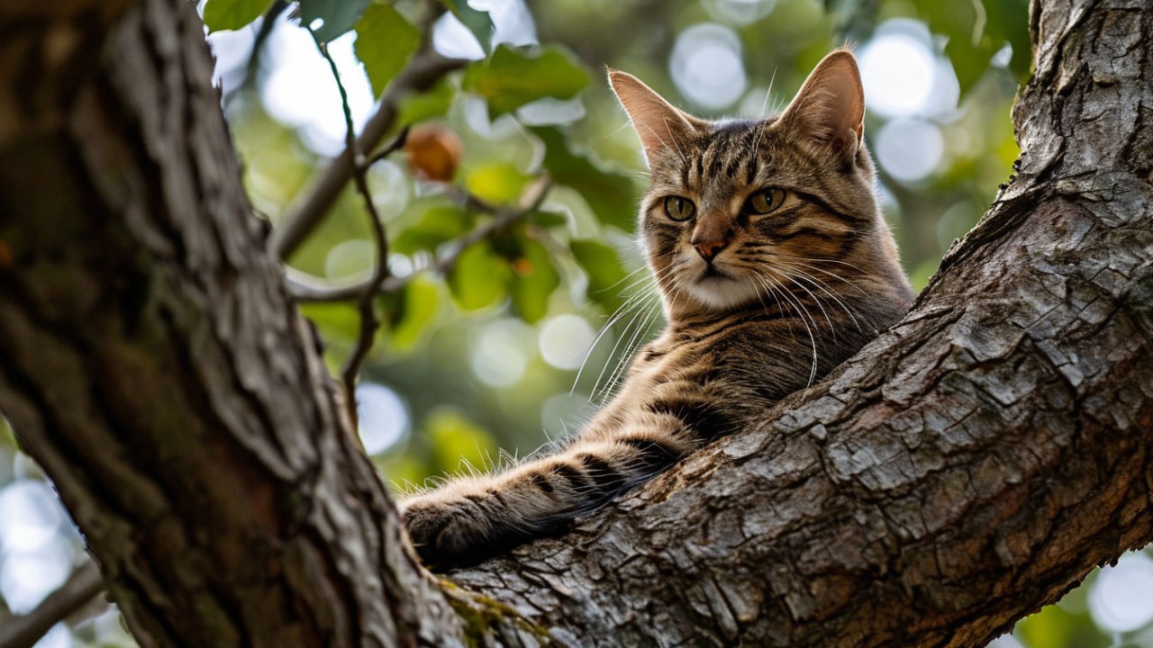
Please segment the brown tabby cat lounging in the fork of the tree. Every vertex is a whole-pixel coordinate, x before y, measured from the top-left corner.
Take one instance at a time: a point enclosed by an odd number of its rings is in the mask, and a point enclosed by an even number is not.
[[[756,422],[912,301],[877,206],[849,51],[826,56],[789,106],[762,120],[709,122],[623,71],[610,69],[609,83],[650,171],[640,235],[668,325],[555,454],[400,503],[430,566],[563,529]]]

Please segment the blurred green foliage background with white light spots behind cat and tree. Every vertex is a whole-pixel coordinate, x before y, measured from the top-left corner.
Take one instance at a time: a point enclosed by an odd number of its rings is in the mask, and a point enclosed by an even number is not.
[[[422,2],[372,5],[331,42],[357,128],[415,48]],[[436,125],[430,133],[459,145],[447,180],[489,205],[522,204],[544,174],[552,184],[537,209],[439,276],[422,269],[491,214],[462,208],[450,183],[419,178],[404,153],[372,166],[390,269],[413,278],[380,300],[386,323],[357,389],[360,430],[399,490],[485,469],[579,428],[632,349],[662,325],[632,229],[646,171],[604,66],[695,114],[755,118],[786,105],[829,50],[852,45],[877,190],[918,289],[1018,155],[1009,110],[1028,74],[1027,0],[445,5],[432,27],[436,48],[475,62],[406,100],[399,125]],[[221,28],[209,40],[244,182],[273,227],[345,142],[332,73],[291,13],[243,27],[206,14]],[[367,277],[374,258],[367,212],[349,188],[289,256],[288,273],[346,285]],[[336,370],[354,345],[355,306],[301,308]],[[1151,556],[1129,553],[1094,572],[992,646],[1153,646]],[[82,558],[51,484],[0,420],[0,624],[33,609]],[[115,609],[97,601],[39,646],[135,643]]]

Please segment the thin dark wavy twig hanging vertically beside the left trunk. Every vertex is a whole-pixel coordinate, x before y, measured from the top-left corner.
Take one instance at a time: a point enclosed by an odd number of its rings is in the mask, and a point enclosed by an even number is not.
[[[345,386],[345,407],[348,410],[348,420],[353,429],[356,429],[360,427],[356,415],[356,377],[360,375],[361,363],[364,362],[368,352],[372,348],[372,338],[376,336],[377,329],[380,327],[380,318],[376,316],[374,302],[376,295],[380,292],[380,284],[389,278],[389,236],[384,231],[384,223],[380,220],[380,214],[376,211],[376,204],[372,203],[372,194],[368,189],[368,160],[364,159],[364,155],[357,148],[356,129],[353,126],[353,112],[348,106],[348,92],[345,91],[345,84],[340,81],[340,70],[337,69],[337,62],[329,55],[329,48],[325,44],[321,43],[311,30],[309,30],[309,33],[312,35],[312,40],[316,42],[316,47],[321,51],[321,55],[324,56],[324,60],[329,61],[329,68],[332,69],[332,77],[336,78],[337,88],[340,90],[340,105],[345,112],[345,140],[353,158],[353,181],[356,184],[356,191],[364,202],[364,209],[368,210],[369,218],[372,221],[372,238],[376,243],[376,264],[372,266],[372,276],[356,301],[356,309],[360,312],[361,322],[360,336],[356,339],[356,346],[353,347],[352,354],[349,354],[348,360],[345,361],[345,366],[340,369],[340,382]],[[393,142],[395,148],[404,145],[405,134],[401,133],[397,137],[397,141]]]

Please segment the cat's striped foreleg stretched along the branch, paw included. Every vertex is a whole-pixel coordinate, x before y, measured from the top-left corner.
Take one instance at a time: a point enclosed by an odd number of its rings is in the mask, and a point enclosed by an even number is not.
[[[451,481],[400,508],[427,564],[473,563],[563,528],[699,445],[678,417],[648,414],[611,436],[578,437],[557,454],[505,473]]]

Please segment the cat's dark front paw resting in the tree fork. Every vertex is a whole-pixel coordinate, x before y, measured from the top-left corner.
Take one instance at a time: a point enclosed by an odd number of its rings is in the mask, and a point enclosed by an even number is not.
[[[430,567],[478,562],[495,553],[491,521],[478,504],[466,498],[415,497],[400,504],[408,537]]]

